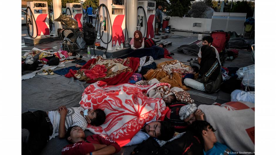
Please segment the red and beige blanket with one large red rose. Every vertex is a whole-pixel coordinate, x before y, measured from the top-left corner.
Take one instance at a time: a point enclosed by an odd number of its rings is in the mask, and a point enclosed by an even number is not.
[[[103,59],[101,56],[90,59],[81,69],[70,69],[65,77],[74,77],[80,81],[94,83],[104,81],[109,85],[127,83],[132,74],[138,69],[139,58]]]

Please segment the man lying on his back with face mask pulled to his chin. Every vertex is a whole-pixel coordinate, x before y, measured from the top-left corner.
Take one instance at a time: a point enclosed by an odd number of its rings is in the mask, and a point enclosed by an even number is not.
[[[28,111],[21,114],[21,119],[22,133],[23,129],[27,129],[30,133],[28,142],[22,141],[22,154],[39,154],[49,139],[57,135],[59,138],[64,138],[66,129],[71,126],[78,125],[85,130],[87,123],[94,126],[102,125],[105,122],[105,113],[101,109],[82,107],[67,109],[63,105],[57,111]]]

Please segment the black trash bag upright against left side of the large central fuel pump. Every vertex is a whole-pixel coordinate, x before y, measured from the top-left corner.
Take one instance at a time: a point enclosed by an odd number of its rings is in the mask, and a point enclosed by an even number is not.
[[[84,32],[83,39],[85,40],[86,45],[94,45],[96,37],[95,37],[95,27],[92,25],[92,23],[84,23],[83,32]]]

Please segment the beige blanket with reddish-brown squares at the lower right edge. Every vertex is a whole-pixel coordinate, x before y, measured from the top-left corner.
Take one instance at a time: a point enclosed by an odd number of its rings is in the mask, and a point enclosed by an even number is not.
[[[199,105],[206,121],[217,130],[218,142],[233,151],[255,151],[255,104],[228,102],[217,105]]]

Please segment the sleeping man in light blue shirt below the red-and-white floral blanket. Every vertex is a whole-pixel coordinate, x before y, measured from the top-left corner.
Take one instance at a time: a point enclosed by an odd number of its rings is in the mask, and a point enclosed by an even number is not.
[[[157,120],[155,122],[147,122],[141,131],[132,137],[131,141],[125,146],[136,145],[147,140],[149,137],[155,137],[159,140],[168,141],[174,135],[174,127],[168,121]]]

